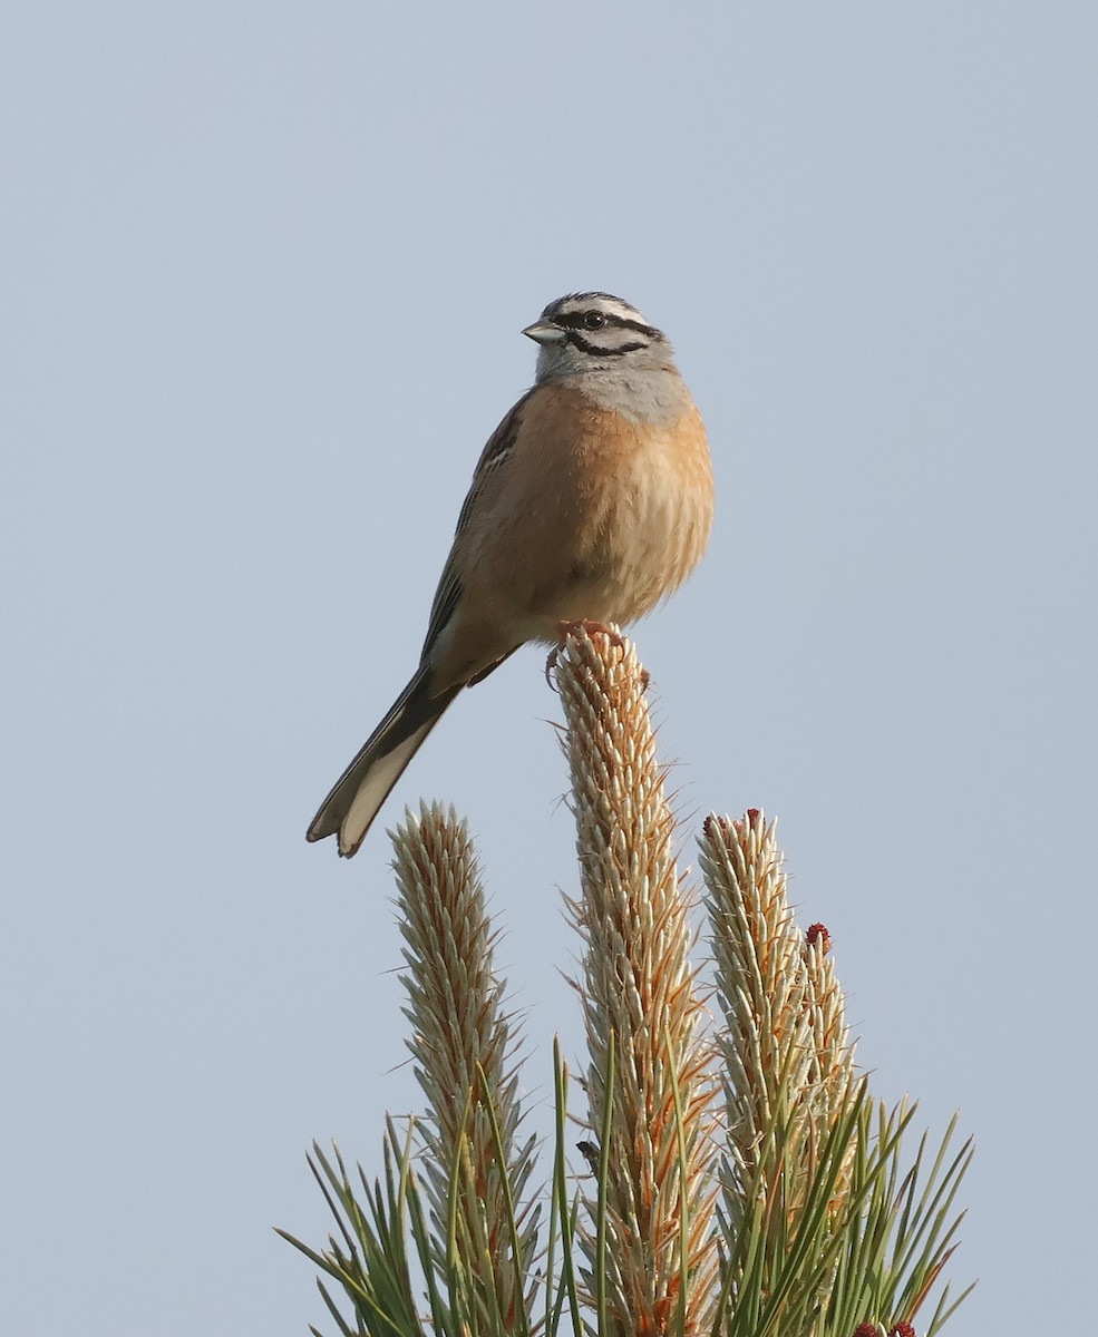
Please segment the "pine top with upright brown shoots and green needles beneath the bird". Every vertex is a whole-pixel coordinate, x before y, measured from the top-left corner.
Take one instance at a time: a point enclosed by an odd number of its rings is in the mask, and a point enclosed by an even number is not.
[[[321,1247],[281,1231],[320,1269],[333,1330],[932,1337],[968,1293],[939,1282],[971,1143],[954,1147],[954,1120],[908,1154],[915,1106],[872,1099],[773,821],[710,816],[702,888],[682,874],[631,644],[579,630],[554,673],[586,1056],[570,1080],[555,1047],[539,1148],[523,1090],[543,1075],[520,1054],[468,830],[439,805],[407,814],[393,866],[424,1110],[389,1120],[374,1178],[314,1144],[334,1231]]]

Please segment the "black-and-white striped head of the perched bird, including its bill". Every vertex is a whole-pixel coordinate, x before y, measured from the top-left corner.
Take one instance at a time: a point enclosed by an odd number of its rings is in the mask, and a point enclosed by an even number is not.
[[[610,293],[568,293],[523,330],[540,345],[538,380],[607,370],[674,370],[662,330]]]

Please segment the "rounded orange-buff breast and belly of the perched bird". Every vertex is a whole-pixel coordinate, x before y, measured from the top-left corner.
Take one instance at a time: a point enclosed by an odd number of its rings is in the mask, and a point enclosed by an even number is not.
[[[709,540],[709,447],[689,400],[645,422],[543,386],[493,484],[471,517],[463,587],[520,639],[552,640],[563,620],[634,622],[686,579]]]

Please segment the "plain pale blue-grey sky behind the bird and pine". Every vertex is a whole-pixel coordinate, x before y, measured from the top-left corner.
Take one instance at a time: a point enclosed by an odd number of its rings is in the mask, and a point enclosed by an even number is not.
[[[0,16],[0,1332],[332,1324],[313,1138],[404,1064],[378,826],[519,330],[607,289],[709,424],[639,628],[683,812],[780,820],[879,1095],[978,1157],[958,1334],[1093,1309],[1098,8],[12,0]],[[548,1099],[576,944],[544,652],[382,814],[468,816]],[[403,1066],[404,1064],[404,1066]]]

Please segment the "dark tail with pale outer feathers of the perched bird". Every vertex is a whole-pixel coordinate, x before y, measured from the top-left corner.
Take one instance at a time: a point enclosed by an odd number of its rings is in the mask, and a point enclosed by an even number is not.
[[[433,694],[431,668],[424,664],[336,781],[305,838],[324,840],[325,836],[338,833],[340,854],[350,858],[365,840],[404,767],[463,686],[464,683],[457,683]]]

